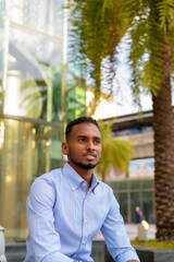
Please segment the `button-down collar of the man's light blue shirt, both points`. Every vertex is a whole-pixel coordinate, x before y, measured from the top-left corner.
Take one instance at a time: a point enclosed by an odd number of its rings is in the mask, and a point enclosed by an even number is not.
[[[73,169],[73,167],[70,166],[69,163],[66,163],[63,167],[63,175],[65,179],[67,180],[70,187],[73,191],[75,191],[82,182],[85,180]],[[92,174],[91,178],[91,191],[96,193],[96,187],[99,184],[99,180],[97,179],[96,175]]]

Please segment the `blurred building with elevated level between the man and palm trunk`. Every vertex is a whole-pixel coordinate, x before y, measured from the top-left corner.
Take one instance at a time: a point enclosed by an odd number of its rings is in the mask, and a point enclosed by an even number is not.
[[[112,171],[108,176],[108,182],[117,198],[123,217],[126,223],[135,223],[135,209],[139,206],[144,213],[142,218],[154,223],[152,112],[132,114],[117,119],[107,119],[104,122],[109,120],[113,122],[112,135],[133,141],[136,153],[127,175]]]

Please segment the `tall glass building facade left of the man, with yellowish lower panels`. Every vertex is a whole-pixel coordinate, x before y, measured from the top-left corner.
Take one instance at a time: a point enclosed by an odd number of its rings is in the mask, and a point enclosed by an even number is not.
[[[62,0],[0,0],[0,224],[27,236],[33,180],[61,163]]]

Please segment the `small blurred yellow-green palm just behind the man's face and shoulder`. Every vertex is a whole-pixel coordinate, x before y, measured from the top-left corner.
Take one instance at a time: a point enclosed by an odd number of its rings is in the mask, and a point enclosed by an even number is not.
[[[111,136],[112,122],[103,124],[99,121],[101,131],[102,154],[96,171],[101,174],[102,181],[105,182],[107,172],[111,169],[128,174],[128,164],[135,156],[133,143],[129,140]]]

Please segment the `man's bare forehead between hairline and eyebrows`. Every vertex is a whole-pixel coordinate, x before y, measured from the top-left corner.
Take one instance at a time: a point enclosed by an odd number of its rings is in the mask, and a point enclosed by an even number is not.
[[[70,132],[70,136],[94,136],[94,138],[101,138],[100,130],[94,123],[79,123],[75,124]]]

